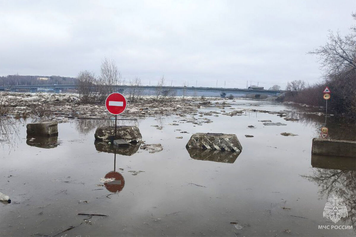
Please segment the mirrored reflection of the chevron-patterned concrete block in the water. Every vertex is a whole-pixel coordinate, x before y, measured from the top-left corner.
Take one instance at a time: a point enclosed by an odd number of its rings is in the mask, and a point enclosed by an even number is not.
[[[223,163],[234,163],[240,152],[232,151],[221,151],[221,150],[210,150],[210,149],[198,149],[198,148],[188,148],[187,151],[195,160],[203,161],[215,161]]]

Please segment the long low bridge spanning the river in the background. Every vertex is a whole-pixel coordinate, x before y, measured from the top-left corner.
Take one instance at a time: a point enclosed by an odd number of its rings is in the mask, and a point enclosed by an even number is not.
[[[125,90],[135,89],[135,90],[149,90],[157,91],[161,90],[163,93],[168,93],[170,91],[180,91],[180,92],[216,92],[220,93],[221,97],[225,97],[226,94],[252,94],[252,95],[269,95],[278,96],[283,93],[283,91],[272,91],[272,90],[250,90],[250,89],[238,89],[238,88],[216,88],[216,87],[187,87],[187,86],[128,86],[128,85],[118,85],[115,86],[117,92],[123,92]],[[51,90],[53,92],[59,93],[63,89],[73,89],[78,90],[78,85],[23,85],[23,86],[0,86],[0,91],[18,91],[18,90],[29,90],[31,92],[37,92],[38,90],[45,89]]]

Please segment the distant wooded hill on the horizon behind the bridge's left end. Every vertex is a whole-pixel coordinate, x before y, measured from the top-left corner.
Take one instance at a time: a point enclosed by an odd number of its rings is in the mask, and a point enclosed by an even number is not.
[[[0,85],[73,85],[77,83],[74,77],[66,76],[21,76],[8,75],[0,77]]]

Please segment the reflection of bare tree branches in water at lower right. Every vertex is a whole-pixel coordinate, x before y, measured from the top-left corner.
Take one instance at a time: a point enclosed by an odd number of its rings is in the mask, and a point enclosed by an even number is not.
[[[340,170],[339,168],[350,168],[348,165],[341,165],[341,159],[336,161],[336,157],[329,157],[325,159],[325,156],[315,156],[312,157],[313,167],[325,167],[325,168],[314,168],[313,174],[310,176],[302,176],[309,181],[315,182],[319,187],[320,199],[327,200],[331,198],[332,195],[336,195],[339,198],[344,199],[346,204],[348,217],[343,218],[350,222],[349,225],[355,225],[356,223],[356,171],[355,163],[354,170]],[[345,157],[341,157],[344,159]],[[351,163],[352,161],[345,161],[346,163]],[[353,161],[355,162],[355,160]],[[334,165],[335,166],[334,166]],[[329,169],[334,168],[334,169]],[[338,169],[336,169],[338,168]]]

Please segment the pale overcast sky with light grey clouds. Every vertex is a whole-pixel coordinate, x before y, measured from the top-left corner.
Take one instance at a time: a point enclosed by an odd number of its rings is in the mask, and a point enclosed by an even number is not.
[[[349,32],[355,0],[0,0],[0,76],[99,73],[113,58],[126,80],[245,88],[320,80],[328,30]]]

